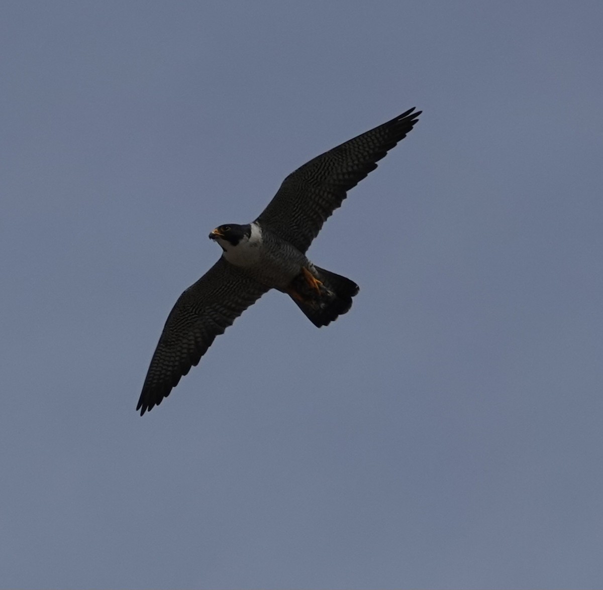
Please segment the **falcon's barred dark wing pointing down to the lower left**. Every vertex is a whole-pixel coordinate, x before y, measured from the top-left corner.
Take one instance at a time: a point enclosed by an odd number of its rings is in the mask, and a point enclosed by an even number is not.
[[[159,338],[137,410],[158,406],[191,366],[196,366],[213,339],[268,288],[222,257],[176,301]]]

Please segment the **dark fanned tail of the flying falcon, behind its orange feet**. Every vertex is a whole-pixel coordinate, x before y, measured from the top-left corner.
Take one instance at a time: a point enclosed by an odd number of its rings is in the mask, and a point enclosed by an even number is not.
[[[289,295],[305,313],[306,318],[320,328],[350,310],[352,297],[358,293],[358,285],[335,272],[326,271],[318,266],[314,268],[317,271],[315,278],[318,286],[314,290],[309,290],[308,284],[305,284],[305,277],[300,275],[292,283],[292,292]]]

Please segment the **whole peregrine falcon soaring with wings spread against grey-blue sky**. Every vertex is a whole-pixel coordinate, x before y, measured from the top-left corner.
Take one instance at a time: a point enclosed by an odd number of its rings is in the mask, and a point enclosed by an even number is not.
[[[215,337],[268,290],[289,295],[318,328],[349,311],[358,285],[314,265],[306,251],[347,191],[377,168],[420,114],[411,108],[315,157],[285,178],[255,221],[211,231],[222,256],[169,313],[136,406],[141,416],[168,397]]]

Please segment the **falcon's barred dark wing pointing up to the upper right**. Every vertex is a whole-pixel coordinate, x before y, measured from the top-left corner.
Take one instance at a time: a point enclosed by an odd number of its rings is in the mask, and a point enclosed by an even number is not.
[[[412,111],[414,108],[324,152],[289,174],[256,221],[305,252],[323,223],[341,206],[346,192],[406,137],[421,114]]]

